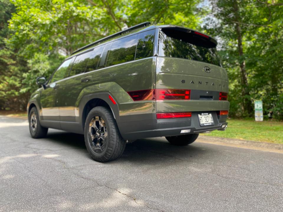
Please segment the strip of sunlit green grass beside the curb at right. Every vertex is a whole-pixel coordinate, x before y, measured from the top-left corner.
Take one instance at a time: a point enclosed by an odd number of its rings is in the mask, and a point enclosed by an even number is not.
[[[202,135],[283,144],[283,122],[243,119],[228,119],[227,122],[225,131],[214,130]]]

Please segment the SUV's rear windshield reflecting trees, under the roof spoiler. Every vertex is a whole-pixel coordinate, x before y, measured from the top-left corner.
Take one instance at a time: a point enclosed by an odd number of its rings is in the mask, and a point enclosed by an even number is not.
[[[196,60],[221,66],[216,54],[216,44],[205,37],[164,28],[159,33],[158,55]]]

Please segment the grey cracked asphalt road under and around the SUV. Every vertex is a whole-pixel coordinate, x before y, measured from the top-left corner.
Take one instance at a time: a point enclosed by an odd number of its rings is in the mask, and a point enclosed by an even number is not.
[[[209,137],[208,137],[209,139]],[[82,135],[0,117],[0,211],[283,211],[283,154],[165,138],[98,163]]]

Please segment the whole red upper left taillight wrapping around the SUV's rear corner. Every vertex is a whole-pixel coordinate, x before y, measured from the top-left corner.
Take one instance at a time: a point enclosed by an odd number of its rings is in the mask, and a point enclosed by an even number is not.
[[[183,89],[149,89],[129,91],[134,101],[141,100],[190,100],[191,90]]]

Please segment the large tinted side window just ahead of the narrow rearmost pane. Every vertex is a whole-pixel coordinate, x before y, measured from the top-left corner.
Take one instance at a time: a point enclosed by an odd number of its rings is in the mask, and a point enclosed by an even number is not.
[[[108,54],[106,66],[134,60],[137,42],[138,34],[114,41]]]

